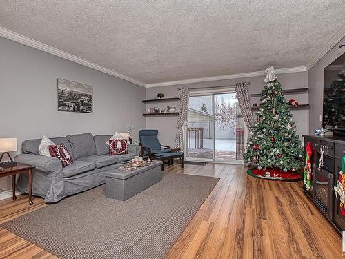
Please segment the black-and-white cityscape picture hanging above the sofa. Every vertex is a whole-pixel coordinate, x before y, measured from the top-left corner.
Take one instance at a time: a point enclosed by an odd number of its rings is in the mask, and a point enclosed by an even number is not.
[[[93,112],[93,87],[66,79],[57,79],[57,111]]]

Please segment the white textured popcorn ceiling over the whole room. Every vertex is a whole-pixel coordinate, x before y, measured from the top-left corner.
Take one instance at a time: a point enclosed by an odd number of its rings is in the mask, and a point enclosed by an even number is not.
[[[0,26],[146,84],[306,66],[344,0],[0,1]]]

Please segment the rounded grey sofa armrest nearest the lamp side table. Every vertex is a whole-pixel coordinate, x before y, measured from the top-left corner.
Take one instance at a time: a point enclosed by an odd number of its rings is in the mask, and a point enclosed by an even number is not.
[[[43,155],[21,154],[14,158],[19,164],[35,166],[36,169],[45,173],[54,173],[62,169],[62,164],[56,157],[46,157]]]

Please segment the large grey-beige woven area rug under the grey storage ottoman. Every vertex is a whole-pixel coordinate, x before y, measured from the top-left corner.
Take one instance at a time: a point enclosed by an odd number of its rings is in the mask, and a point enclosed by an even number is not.
[[[126,202],[102,185],[0,226],[59,258],[163,258],[218,180],[164,173]]]

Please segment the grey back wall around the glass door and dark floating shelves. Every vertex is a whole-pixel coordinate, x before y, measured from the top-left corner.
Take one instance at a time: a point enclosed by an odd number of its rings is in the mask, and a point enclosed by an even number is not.
[[[308,87],[308,73],[288,73],[277,75],[279,81],[282,83],[283,89],[289,88],[306,88]],[[229,79],[221,81],[211,81],[197,84],[185,84],[190,88],[193,87],[209,87],[209,86],[229,86],[236,84],[240,81],[250,81],[249,92],[261,93],[264,88],[264,76],[260,77],[247,77],[239,79]],[[153,99],[158,92],[164,93],[165,97],[178,97],[179,91],[177,88],[181,88],[182,85],[178,86],[162,86],[146,88],[146,99]],[[308,93],[302,93],[299,95],[286,95],[286,99],[296,99],[299,104],[308,104]],[[259,97],[252,98],[252,102],[256,102],[259,105]],[[166,102],[164,104],[146,104],[148,106],[159,106],[164,108],[165,106],[176,106],[178,108],[178,102]],[[299,135],[308,133],[308,110],[293,110],[293,120],[297,126],[297,133]],[[146,128],[156,128],[159,130],[159,140],[161,144],[174,146],[175,144],[175,133],[176,133],[177,117],[147,117]]]

